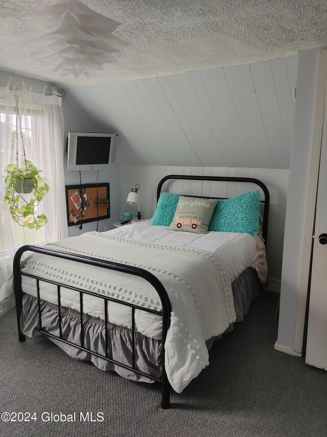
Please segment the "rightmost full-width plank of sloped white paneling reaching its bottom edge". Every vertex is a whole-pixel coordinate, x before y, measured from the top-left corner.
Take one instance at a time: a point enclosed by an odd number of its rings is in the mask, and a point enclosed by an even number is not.
[[[275,169],[289,167],[289,154],[270,62],[250,65],[256,98]]]

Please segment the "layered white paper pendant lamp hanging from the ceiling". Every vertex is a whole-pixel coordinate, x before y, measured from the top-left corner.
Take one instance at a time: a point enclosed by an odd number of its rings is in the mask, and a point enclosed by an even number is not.
[[[42,58],[61,76],[90,76],[102,65],[115,62],[113,47],[128,46],[112,34],[120,26],[104,15],[89,9],[79,0],[62,0],[42,11],[25,15],[29,29],[19,32],[34,47],[31,55]]]

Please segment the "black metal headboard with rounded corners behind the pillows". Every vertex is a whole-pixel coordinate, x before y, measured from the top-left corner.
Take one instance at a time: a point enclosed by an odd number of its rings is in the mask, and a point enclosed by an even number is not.
[[[157,202],[161,193],[162,185],[170,179],[182,179],[182,180],[209,180],[209,181],[223,181],[223,182],[248,182],[260,186],[265,195],[265,200],[261,200],[264,204],[263,212],[263,224],[262,224],[262,236],[265,240],[265,245],[267,247],[267,234],[268,234],[268,217],[269,217],[269,203],[270,195],[267,186],[258,179],[254,178],[242,178],[242,177],[225,177],[225,176],[191,176],[191,175],[168,175],[160,180],[157,188]],[[192,195],[184,195],[191,197]],[[205,199],[226,199],[226,197],[208,197],[208,196],[192,196],[192,197],[202,197]]]

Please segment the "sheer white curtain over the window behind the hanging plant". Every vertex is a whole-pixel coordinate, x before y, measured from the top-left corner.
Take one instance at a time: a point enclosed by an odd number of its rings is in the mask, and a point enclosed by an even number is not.
[[[66,206],[63,171],[64,123],[61,98],[53,94],[15,92],[8,87],[0,88],[0,172],[9,162],[15,162],[15,93],[18,95],[22,133],[25,139],[27,159],[33,161],[50,186],[38,206],[38,212],[46,215],[49,222],[38,231],[13,224],[8,204],[4,201],[4,178],[0,178],[0,287],[12,273],[12,261],[16,249],[23,244],[43,245],[67,237]],[[19,132],[19,131],[18,131]],[[24,160],[18,135],[19,164]],[[28,200],[29,195],[24,195]],[[13,305],[14,297],[6,284],[0,290],[0,316]]]

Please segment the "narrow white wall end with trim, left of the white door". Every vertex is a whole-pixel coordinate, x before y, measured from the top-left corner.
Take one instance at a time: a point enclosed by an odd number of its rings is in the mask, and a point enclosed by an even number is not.
[[[275,345],[289,353],[302,351],[325,84],[326,53],[318,49],[300,52]]]

